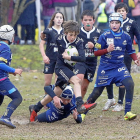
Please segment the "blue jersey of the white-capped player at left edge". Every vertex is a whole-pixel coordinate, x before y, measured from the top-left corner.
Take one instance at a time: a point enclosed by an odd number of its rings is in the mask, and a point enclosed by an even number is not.
[[[10,66],[12,60],[12,53],[10,46],[5,42],[0,42],[0,63],[5,63]],[[8,77],[8,72],[0,69],[0,79]]]

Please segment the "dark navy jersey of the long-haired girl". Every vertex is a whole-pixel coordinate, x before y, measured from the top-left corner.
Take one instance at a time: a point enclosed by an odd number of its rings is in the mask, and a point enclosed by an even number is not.
[[[58,52],[58,47],[56,44],[56,38],[58,34],[63,33],[63,30],[57,31],[56,29],[48,28],[44,32],[46,34],[45,41],[47,42],[47,47],[46,47],[46,55],[49,57],[49,59],[52,60],[57,60],[57,52]]]

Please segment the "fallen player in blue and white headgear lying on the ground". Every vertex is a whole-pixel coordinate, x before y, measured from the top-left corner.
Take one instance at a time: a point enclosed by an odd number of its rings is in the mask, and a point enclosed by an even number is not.
[[[49,94],[48,90],[53,90],[54,86],[53,85],[46,86],[44,89],[45,92]],[[70,114],[72,114],[75,121],[77,123],[81,123],[82,117],[81,114],[78,114],[76,110],[75,95],[73,94],[73,89],[71,86],[69,85],[66,86],[66,88],[63,90],[62,94],[60,95],[60,99],[61,99],[60,109],[56,108],[54,102],[51,101],[46,105],[48,107],[48,110],[39,115],[37,115],[37,113],[43,107],[40,101],[36,105],[29,106],[29,111],[32,114],[30,116],[30,122],[38,121],[38,122],[51,123],[67,118]],[[94,107],[95,106],[96,103],[94,104]]]

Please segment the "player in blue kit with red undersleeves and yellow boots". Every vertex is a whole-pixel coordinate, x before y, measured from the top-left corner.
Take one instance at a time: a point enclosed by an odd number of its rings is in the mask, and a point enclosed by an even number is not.
[[[104,32],[95,45],[94,54],[95,56],[101,56],[101,59],[94,90],[89,96],[88,102],[94,103],[107,85],[113,83],[117,86],[124,85],[126,88],[124,120],[132,120],[137,116],[130,112],[134,82],[124,64],[123,56],[125,50],[127,50],[127,53],[132,57],[135,64],[140,64],[133,49],[130,36],[121,28],[123,24],[122,15],[112,13],[109,17],[109,24],[110,30]]]

